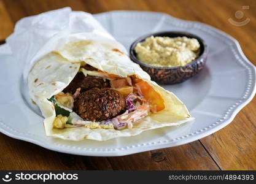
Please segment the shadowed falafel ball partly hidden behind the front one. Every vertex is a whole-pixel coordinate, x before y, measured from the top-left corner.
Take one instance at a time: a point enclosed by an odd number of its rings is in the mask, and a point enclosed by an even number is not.
[[[109,80],[104,80],[101,77],[95,77],[91,75],[85,75],[82,72],[78,72],[74,79],[64,88],[64,93],[74,94],[77,88],[81,88],[80,92],[90,90],[91,88],[107,88],[109,87]]]

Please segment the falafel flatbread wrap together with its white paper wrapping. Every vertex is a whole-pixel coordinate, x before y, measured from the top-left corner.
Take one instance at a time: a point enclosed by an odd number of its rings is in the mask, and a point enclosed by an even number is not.
[[[90,13],[65,7],[22,18],[7,44],[47,136],[108,140],[193,120]]]

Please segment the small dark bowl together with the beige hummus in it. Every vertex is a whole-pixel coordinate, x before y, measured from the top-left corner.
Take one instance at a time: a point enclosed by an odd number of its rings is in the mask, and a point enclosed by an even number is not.
[[[130,58],[152,80],[162,84],[184,82],[203,69],[208,47],[198,36],[161,32],[142,36],[130,47]]]

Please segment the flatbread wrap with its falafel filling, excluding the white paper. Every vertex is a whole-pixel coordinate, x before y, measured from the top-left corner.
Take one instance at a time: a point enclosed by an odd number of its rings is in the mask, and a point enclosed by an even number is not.
[[[50,137],[102,141],[193,120],[173,93],[98,40],[71,41],[43,56],[28,86]]]

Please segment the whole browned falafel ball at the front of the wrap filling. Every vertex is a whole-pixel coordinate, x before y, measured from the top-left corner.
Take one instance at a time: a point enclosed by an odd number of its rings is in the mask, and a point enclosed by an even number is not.
[[[125,99],[112,88],[93,88],[81,93],[74,102],[74,111],[87,121],[114,118],[124,109]]]

